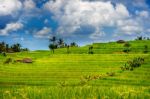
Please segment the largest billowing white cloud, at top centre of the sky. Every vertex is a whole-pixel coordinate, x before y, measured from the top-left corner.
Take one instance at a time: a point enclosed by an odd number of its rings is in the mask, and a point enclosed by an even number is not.
[[[47,2],[44,7],[54,14],[54,19],[60,25],[57,32],[64,35],[72,34],[86,25],[95,27],[93,35],[103,35],[102,27],[115,26],[118,20],[130,17],[123,4],[113,6],[111,2],[56,0]]]

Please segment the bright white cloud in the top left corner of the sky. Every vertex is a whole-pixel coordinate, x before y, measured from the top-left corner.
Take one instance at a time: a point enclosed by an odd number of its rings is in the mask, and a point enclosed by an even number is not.
[[[22,3],[19,0],[0,0],[0,16],[12,15],[21,7]]]

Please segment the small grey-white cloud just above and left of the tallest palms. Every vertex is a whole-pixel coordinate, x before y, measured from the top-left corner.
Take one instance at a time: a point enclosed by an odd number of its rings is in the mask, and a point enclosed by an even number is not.
[[[50,33],[52,32],[51,28],[43,27],[43,29],[39,30],[34,34],[36,38],[49,38]]]

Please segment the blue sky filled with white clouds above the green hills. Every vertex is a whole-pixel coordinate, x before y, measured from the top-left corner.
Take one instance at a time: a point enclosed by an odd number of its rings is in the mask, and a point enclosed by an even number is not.
[[[48,49],[48,38],[85,45],[150,37],[150,0],[0,0],[0,41]]]

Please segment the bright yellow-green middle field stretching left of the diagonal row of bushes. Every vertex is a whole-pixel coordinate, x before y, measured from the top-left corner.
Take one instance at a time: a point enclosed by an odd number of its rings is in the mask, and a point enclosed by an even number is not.
[[[20,53],[21,54],[21,53]],[[16,54],[13,59],[25,58]],[[29,53],[30,54],[30,53]],[[0,64],[0,83],[14,85],[57,85],[66,81],[70,85],[76,85],[82,76],[105,74],[106,72],[118,72],[120,67],[134,57],[146,57],[147,54],[49,54],[37,58],[42,54],[36,52],[30,56],[33,64],[11,63]],[[112,79],[112,78],[111,78]]]

